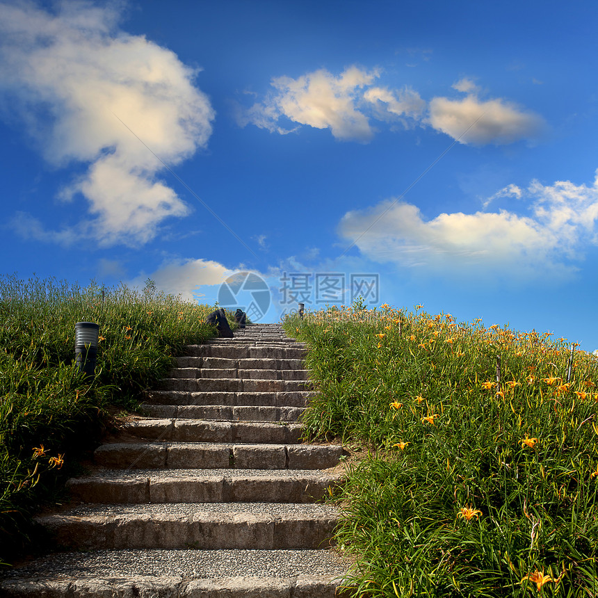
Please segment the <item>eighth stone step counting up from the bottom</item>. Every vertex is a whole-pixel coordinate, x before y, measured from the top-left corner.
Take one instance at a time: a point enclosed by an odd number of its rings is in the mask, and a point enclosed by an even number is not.
[[[309,380],[241,380],[240,378],[162,378],[160,390],[188,392],[284,392],[312,390]]]

